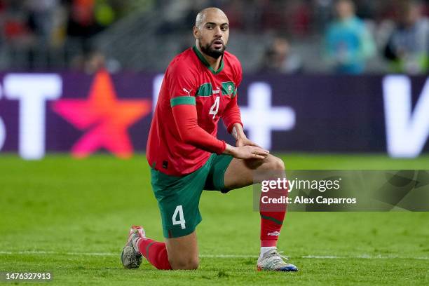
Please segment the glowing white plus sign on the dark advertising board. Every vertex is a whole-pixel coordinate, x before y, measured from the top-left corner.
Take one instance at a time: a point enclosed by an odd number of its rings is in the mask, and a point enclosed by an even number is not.
[[[249,139],[265,149],[271,148],[271,131],[292,130],[296,118],[290,107],[271,107],[271,95],[268,83],[252,83],[247,91],[249,105],[240,107]]]

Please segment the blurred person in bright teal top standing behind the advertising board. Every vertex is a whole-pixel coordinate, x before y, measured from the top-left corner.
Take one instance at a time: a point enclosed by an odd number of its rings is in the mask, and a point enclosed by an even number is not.
[[[365,60],[374,55],[374,41],[365,23],[355,15],[353,1],[339,0],[335,9],[338,18],[325,35],[327,59],[339,74],[361,74]]]

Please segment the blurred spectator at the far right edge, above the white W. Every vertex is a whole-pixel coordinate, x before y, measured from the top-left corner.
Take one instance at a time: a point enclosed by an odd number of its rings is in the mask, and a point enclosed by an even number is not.
[[[423,74],[429,71],[429,19],[417,1],[405,2],[388,40],[384,56],[395,72]]]

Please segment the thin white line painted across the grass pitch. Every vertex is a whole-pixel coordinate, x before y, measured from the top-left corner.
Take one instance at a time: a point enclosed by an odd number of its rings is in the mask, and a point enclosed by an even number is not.
[[[43,250],[34,250],[34,251],[0,251],[0,254],[24,254],[24,255],[69,255],[69,256],[118,256],[120,252],[54,252],[54,251],[43,251]],[[252,254],[200,254],[201,258],[257,258],[257,255]],[[419,259],[419,260],[429,260],[429,257],[400,257],[400,256],[381,256],[381,255],[368,255],[360,254],[355,256],[336,256],[336,255],[304,255],[301,257],[293,258],[302,258],[302,259]]]

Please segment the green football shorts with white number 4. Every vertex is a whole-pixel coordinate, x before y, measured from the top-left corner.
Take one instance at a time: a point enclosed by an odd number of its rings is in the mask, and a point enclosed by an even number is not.
[[[165,175],[151,169],[151,183],[163,221],[165,238],[178,238],[192,233],[201,222],[198,208],[203,190],[226,193],[226,168],[233,159],[229,155],[212,154],[198,170],[182,177]]]

